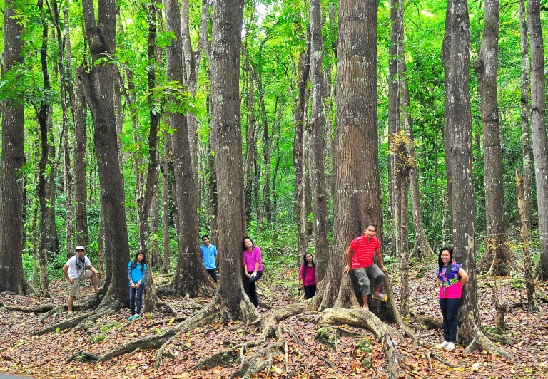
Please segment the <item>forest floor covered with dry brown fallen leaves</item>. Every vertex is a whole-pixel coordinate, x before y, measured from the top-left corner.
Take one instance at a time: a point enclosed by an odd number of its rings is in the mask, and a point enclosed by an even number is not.
[[[415,322],[417,316],[427,315],[440,318],[437,301],[437,285],[434,278],[434,266],[421,266],[420,271],[411,280],[412,289],[409,319],[424,346],[413,346],[406,339],[397,345],[402,363],[413,378],[548,378],[548,304],[540,302],[544,311],[529,311],[524,302],[527,299],[524,286],[516,280],[507,280],[499,291],[507,296],[506,315],[507,336],[514,342],[503,345],[514,361],[488,355],[482,351],[463,353],[464,347],[457,346],[455,351],[445,351],[437,347],[442,341],[442,331],[438,328],[420,328]],[[277,297],[271,301],[271,310],[261,309],[264,316],[275,309],[297,301],[298,282],[296,270],[284,270],[282,277],[263,276],[263,283],[273,290]],[[389,271],[390,275],[390,271]],[[156,284],[166,278],[155,276]],[[395,278],[392,278],[395,282]],[[496,316],[493,306],[494,280],[478,281],[478,301],[482,323],[494,326]],[[395,295],[398,285],[394,283]],[[503,282],[504,284],[504,282]],[[547,292],[548,284],[539,284],[538,289]],[[91,284],[83,286],[83,296],[92,294]],[[37,306],[40,303],[62,304],[66,301],[66,281],[54,281],[50,286],[53,298],[49,301],[31,296],[12,296],[0,294],[0,303],[19,306]],[[81,298],[83,298],[81,296]],[[207,299],[195,299],[198,303],[207,303]],[[185,301],[170,299],[181,314],[193,311],[183,309]],[[63,321],[69,316],[66,312],[51,317],[39,324],[39,313],[9,311],[0,306],[0,373],[25,375],[32,378],[228,378],[235,372],[238,363],[230,367],[213,367],[193,370],[193,367],[208,355],[223,349],[223,342],[240,343],[254,338],[257,331],[252,326],[232,322],[196,328],[188,333],[180,333],[168,345],[168,353],[163,365],[154,368],[156,350],[135,351],[121,355],[103,363],[93,364],[66,359],[78,353],[88,351],[101,355],[105,351],[137,336],[150,336],[161,333],[171,327],[173,318],[167,309],[151,314],[147,313],[136,321],[128,322],[128,310],[109,314],[98,319],[87,330],[68,329],[44,336],[32,336],[31,333],[54,322]],[[78,312],[76,312],[78,314]],[[315,313],[301,313],[283,321],[292,328],[295,335],[286,334],[288,359],[280,354],[273,361],[270,370],[258,373],[254,378],[372,378],[386,377],[386,361],[382,347],[375,341],[372,333],[360,328],[340,326],[324,328],[313,321]],[[164,320],[163,325],[151,326]],[[255,348],[256,349],[256,348]],[[253,353],[250,349],[246,356]],[[453,368],[431,359],[430,353],[448,360]],[[365,368],[362,362],[371,358],[372,365]]]

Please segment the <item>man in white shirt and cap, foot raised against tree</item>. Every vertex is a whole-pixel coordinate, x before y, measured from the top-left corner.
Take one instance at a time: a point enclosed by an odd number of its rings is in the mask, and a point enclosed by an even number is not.
[[[89,258],[86,256],[86,249],[84,249],[83,246],[76,246],[76,255],[71,256],[71,258],[66,261],[63,272],[68,281],[68,314],[72,314],[72,304],[74,303],[76,295],[78,295],[81,281],[91,279],[95,293],[99,291],[97,285],[97,270],[95,267],[91,266],[91,261],[89,261]]]

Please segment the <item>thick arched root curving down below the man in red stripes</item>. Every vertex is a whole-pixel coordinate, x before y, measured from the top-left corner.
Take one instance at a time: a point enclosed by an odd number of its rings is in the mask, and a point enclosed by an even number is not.
[[[395,343],[392,341],[385,323],[382,323],[373,313],[356,309],[329,308],[320,313],[318,318],[316,318],[316,322],[330,325],[345,323],[347,325],[367,328],[382,343],[382,350],[387,357],[389,377],[400,378],[407,375],[405,369],[402,368],[400,355],[397,353]]]

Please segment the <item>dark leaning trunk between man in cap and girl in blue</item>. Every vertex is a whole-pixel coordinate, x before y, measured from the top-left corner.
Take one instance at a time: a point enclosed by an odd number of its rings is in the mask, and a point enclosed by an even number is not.
[[[93,66],[81,68],[78,71],[78,78],[82,81],[83,93],[93,118],[93,142],[101,186],[101,206],[104,211],[108,275],[108,289],[100,307],[117,308],[128,306],[129,300],[126,270],[129,261],[128,229],[123,181],[118,161],[118,134],[113,98],[113,83],[116,82],[117,70],[115,64],[110,61],[97,62],[113,56],[116,51],[116,1],[98,0],[97,21],[93,1],[83,0],[82,4]]]

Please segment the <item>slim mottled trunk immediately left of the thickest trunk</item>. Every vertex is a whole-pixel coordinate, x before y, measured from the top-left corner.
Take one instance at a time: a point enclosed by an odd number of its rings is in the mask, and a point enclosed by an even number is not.
[[[310,171],[314,214],[314,252],[316,279],[322,280],[328,267],[328,198],[325,190],[324,128],[325,85],[323,82],[323,39],[320,0],[310,0],[310,81],[312,83],[312,118],[310,119]]]

